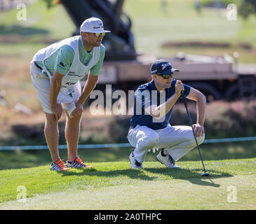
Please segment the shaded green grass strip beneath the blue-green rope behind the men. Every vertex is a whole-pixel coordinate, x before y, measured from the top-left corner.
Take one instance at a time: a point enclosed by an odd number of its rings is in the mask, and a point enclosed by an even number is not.
[[[6,144],[10,145],[10,144]],[[86,162],[127,162],[133,148],[95,148],[79,149],[80,157]],[[256,143],[202,144],[200,146],[203,160],[230,160],[256,158]],[[147,153],[147,162],[156,161],[156,153]],[[67,150],[60,150],[60,158],[67,160]],[[197,148],[187,153],[180,161],[198,161]],[[50,165],[50,152],[44,151],[0,151],[0,170],[18,169]]]

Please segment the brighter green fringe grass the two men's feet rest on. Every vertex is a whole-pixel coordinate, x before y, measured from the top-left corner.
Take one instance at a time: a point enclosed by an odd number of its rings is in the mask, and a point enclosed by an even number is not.
[[[51,172],[49,166],[0,170],[0,203],[16,200],[18,187],[26,188],[26,196],[46,195],[68,189],[91,190],[107,186],[133,185],[138,181],[158,182],[173,179],[190,179],[191,183],[204,184],[201,162],[179,162],[182,169],[166,169],[159,162],[144,162],[144,169],[130,169],[129,162],[95,162],[95,168],[70,169],[68,172]],[[206,179],[229,178],[235,175],[253,175],[256,158],[243,160],[206,161]]]

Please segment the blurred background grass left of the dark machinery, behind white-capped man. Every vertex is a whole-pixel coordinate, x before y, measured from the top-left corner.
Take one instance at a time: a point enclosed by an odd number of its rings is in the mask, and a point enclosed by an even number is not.
[[[48,9],[43,1],[27,6],[27,20],[18,21],[18,10],[0,14],[0,56],[32,59],[37,50],[72,35],[76,26],[62,5]]]

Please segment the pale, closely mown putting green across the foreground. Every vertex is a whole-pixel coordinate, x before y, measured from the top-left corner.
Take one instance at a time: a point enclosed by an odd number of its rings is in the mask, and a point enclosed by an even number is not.
[[[90,190],[69,189],[27,198],[25,203],[6,202],[0,209],[256,209],[255,177],[136,181]]]

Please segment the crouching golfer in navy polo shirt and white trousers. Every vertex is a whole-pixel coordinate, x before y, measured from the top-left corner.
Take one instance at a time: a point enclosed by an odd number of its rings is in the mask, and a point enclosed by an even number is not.
[[[130,154],[131,168],[142,169],[142,162],[151,148],[161,148],[156,156],[167,168],[175,165],[186,153],[196,147],[190,126],[171,126],[173,106],[184,91],[188,99],[196,102],[197,122],[194,126],[198,144],[205,138],[203,123],[206,115],[206,97],[180,80],[174,80],[171,64],[158,59],[151,65],[152,80],[140,85],[134,97],[134,115],[130,118],[128,141],[135,148]]]

